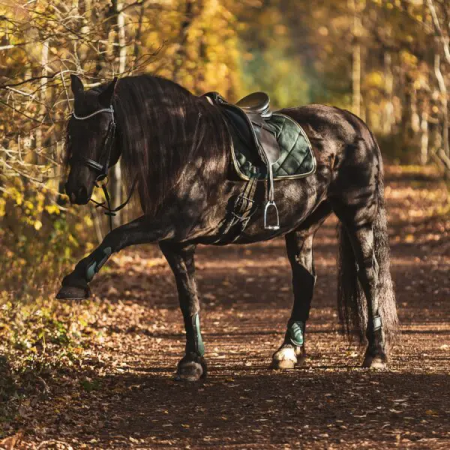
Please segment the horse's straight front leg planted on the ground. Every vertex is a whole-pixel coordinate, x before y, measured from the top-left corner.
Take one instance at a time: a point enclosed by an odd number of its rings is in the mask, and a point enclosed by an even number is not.
[[[195,281],[194,244],[181,245],[169,241],[159,243],[177,284],[180,308],[186,330],[185,355],[178,363],[178,380],[197,381],[206,377],[206,361],[200,333],[200,302]]]

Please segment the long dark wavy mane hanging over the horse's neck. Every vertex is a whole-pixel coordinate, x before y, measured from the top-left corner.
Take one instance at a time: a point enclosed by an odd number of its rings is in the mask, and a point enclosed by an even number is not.
[[[188,164],[201,163],[203,179],[226,170],[231,138],[221,112],[202,97],[156,76],[119,80],[114,108],[121,164],[137,179],[145,214],[156,214]]]

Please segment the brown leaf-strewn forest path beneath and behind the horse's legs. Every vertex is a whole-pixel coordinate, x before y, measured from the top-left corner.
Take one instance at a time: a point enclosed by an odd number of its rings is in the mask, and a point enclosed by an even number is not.
[[[156,250],[135,249],[73,306],[89,311],[80,354],[10,399],[0,447],[450,448],[447,188],[432,169],[390,167],[386,196],[402,330],[389,370],[361,369],[338,334],[335,219],[315,241],[309,357],[289,371],[269,369],[292,303],[284,240],[199,248],[209,374],[198,383],[173,377],[184,348],[173,276]]]

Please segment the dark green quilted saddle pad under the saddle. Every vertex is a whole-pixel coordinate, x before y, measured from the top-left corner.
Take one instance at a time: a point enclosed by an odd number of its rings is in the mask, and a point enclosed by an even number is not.
[[[265,120],[267,130],[275,134],[280,146],[280,157],[273,164],[275,180],[302,178],[316,171],[316,158],[312,152],[303,128],[289,116],[274,112]],[[231,151],[233,165],[237,175],[243,180],[267,179],[267,167],[262,164],[255,149],[249,148],[248,142],[232,132],[233,148]]]

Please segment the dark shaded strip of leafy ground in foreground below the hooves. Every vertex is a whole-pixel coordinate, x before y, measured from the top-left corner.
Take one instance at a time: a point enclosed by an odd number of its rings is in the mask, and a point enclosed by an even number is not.
[[[448,439],[450,393],[443,374],[227,370],[236,377],[213,369],[210,380],[199,384],[180,384],[151,368],[107,376],[101,381],[108,392],[104,407],[95,392],[86,394],[64,411],[59,432],[75,439],[82,434],[101,448],[130,442],[258,447],[324,439],[426,446]]]

